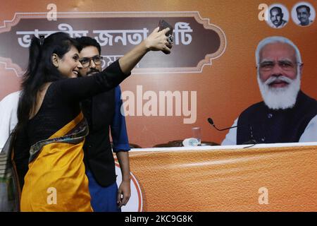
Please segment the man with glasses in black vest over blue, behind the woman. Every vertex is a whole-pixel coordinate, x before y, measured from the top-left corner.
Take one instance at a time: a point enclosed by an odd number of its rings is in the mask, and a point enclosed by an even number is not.
[[[80,37],[80,76],[90,76],[101,71],[101,47],[91,37]],[[86,137],[85,165],[89,179],[89,192],[94,211],[120,211],[130,198],[130,150],[125,127],[125,117],[120,113],[120,87],[101,93],[82,102],[82,111],[89,124]],[[115,163],[111,150],[109,130],[113,140],[113,151],[118,157],[122,172],[122,183],[116,184]]]

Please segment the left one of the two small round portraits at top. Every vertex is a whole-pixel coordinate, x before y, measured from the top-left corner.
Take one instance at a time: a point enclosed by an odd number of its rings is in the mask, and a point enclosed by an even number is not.
[[[288,10],[282,4],[272,4],[268,7],[268,20],[266,22],[272,28],[284,28],[289,18]]]

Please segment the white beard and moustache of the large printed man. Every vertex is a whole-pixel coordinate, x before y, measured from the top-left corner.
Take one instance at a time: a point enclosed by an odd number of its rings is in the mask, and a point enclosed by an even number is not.
[[[286,76],[271,77],[267,81],[262,82],[259,76],[257,80],[259,83],[259,88],[263,101],[266,103],[270,109],[288,109],[294,107],[297,99],[297,94],[301,86],[300,74],[297,73],[297,76],[294,80],[287,78]],[[273,88],[268,84],[273,81],[280,80],[289,83],[286,87],[282,88]]]

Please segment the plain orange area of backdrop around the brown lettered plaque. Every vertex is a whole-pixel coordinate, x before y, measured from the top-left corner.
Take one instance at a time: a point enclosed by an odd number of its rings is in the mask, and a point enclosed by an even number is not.
[[[183,117],[126,117],[130,143],[137,143],[142,147],[188,138],[192,136],[191,128],[194,126],[201,127],[202,140],[220,143],[226,132],[215,131],[206,119],[212,117],[218,127],[230,126],[243,109],[261,101],[256,82],[254,51],[263,37],[281,35],[297,44],[304,61],[302,90],[316,99],[317,22],[302,28],[295,25],[290,18],[285,28],[279,30],[270,28],[265,21],[258,19],[258,6],[262,2],[255,0],[54,1],[58,12],[198,11],[202,18],[209,18],[210,23],[225,32],[227,38],[225,52],[221,57],[213,60],[212,66],[205,66],[202,73],[133,75],[122,83],[123,91],[132,92],[136,92],[137,85],[143,85],[143,92],[197,90],[195,124],[183,124]],[[276,2],[266,1],[266,4]],[[292,6],[297,2],[278,1],[287,6],[290,17]],[[317,10],[316,1],[307,2]],[[46,6],[51,3],[53,2],[50,0],[3,2],[0,9],[0,25],[4,25],[4,20],[12,20],[15,12],[46,12]],[[8,93],[18,90],[19,83],[20,79],[12,71],[6,71],[4,65],[0,64],[0,100]]]

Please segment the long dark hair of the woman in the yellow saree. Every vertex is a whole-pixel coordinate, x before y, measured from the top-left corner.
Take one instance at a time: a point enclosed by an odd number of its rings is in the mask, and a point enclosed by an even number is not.
[[[44,42],[43,42],[44,41]],[[67,33],[56,32],[44,40],[32,37],[27,71],[23,75],[22,93],[18,105],[18,129],[21,129],[30,118],[37,102],[37,93],[45,83],[65,78],[51,61],[53,54],[59,58],[75,47],[80,52],[78,42]]]

